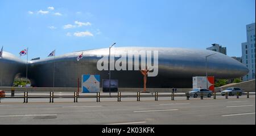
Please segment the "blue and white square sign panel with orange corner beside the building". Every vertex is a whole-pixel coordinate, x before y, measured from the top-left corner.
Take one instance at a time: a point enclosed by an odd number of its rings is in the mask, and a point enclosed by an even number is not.
[[[100,75],[82,75],[82,92],[100,92]]]

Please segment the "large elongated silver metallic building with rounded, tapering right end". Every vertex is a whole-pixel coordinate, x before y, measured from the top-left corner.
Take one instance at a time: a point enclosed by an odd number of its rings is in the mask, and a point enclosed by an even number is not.
[[[146,47],[121,47],[112,48],[111,54],[118,55],[128,50],[158,50],[158,75],[147,78],[147,87],[154,88],[191,88],[192,76],[205,76],[205,56],[208,57],[208,76],[220,79],[238,78],[248,73],[242,63],[224,54],[211,50],[195,50],[183,48],[146,48]],[[99,74],[102,79],[109,78],[109,71],[99,71],[98,56],[106,56],[109,49],[84,50],[83,58],[77,61],[81,52],[73,52],[56,56],[55,59],[55,87],[77,87],[77,77],[82,74]],[[115,57],[117,60],[119,57]],[[53,86],[53,61],[54,57],[30,61],[28,78],[32,86]],[[128,65],[128,62],[127,62]],[[133,63],[134,65],[134,63]],[[111,79],[118,79],[119,87],[143,87],[143,76],[138,70],[112,70]],[[81,83],[80,83],[81,86]]]

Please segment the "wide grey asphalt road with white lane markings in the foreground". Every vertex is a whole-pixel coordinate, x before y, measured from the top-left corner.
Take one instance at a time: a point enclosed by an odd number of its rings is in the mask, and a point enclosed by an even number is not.
[[[213,98],[4,99],[0,124],[254,124],[255,95]],[[62,101],[62,102],[61,102]]]

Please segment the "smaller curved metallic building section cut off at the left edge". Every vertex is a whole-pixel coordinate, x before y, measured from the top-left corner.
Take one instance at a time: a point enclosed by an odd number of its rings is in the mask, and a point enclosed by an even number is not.
[[[11,53],[3,52],[0,58],[0,86],[13,86],[15,76],[26,76],[26,62]]]

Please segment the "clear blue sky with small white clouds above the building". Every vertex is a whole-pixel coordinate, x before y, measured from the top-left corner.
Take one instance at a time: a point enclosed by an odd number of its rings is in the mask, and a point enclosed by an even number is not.
[[[0,48],[29,59],[115,46],[205,49],[241,56],[254,0],[0,0]],[[24,57],[23,59],[26,59]]]

